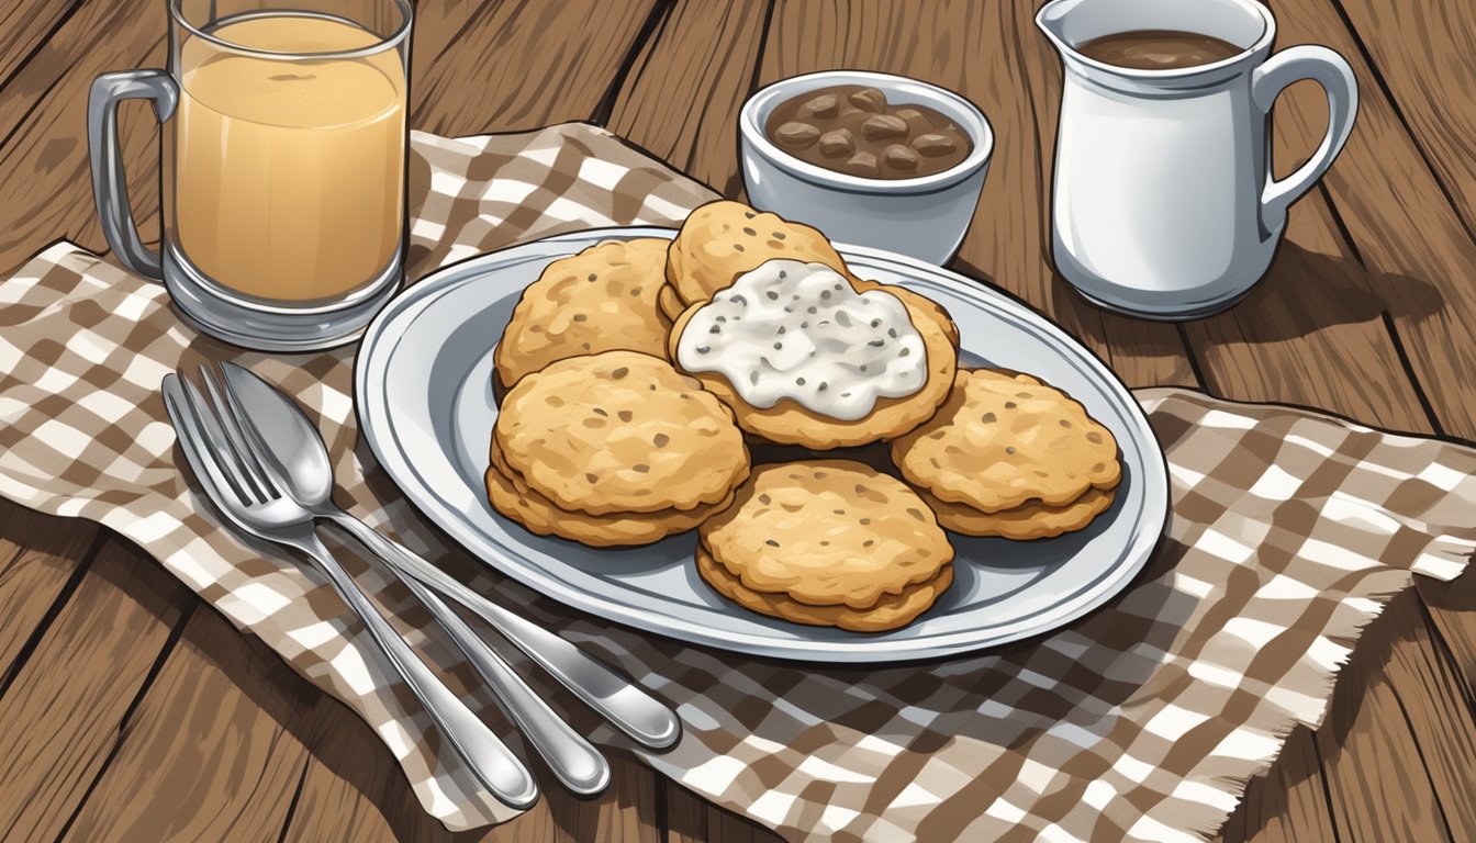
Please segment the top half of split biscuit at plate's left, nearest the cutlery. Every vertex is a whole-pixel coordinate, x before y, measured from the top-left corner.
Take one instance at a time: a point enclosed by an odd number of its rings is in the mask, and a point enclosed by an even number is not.
[[[732,413],[666,360],[635,351],[570,357],[523,378],[493,436],[530,489],[590,515],[717,503],[748,475]]]

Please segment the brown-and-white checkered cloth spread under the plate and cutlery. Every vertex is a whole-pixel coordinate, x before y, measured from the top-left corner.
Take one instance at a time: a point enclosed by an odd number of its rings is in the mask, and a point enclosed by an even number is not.
[[[415,278],[558,232],[672,224],[711,196],[577,124],[416,134],[412,192]],[[1318,725],[1337,667],[1389,596],[1414,573],[1454,579],[1476,549],[1467,449],[1148,390],[1139,399],[1169,458],[1175,518],[1107,607],[965,658],[878,670],[756,661],[574,613],[444,542],[357,443],[353,350],[280,359],[217,344],[184,328],[161,288],[65,242],[0,283],[0,493],[142,545],[369,722],[425,809],[458,830],[511,812],[441,749],[337,595],[238,542],[186,483],[158,385],[208,357],[298,396],[356,514],[677,706],[682,743],[646,763],[796,840],[1199,840],[1294,723]],[[403,586],[345,561],[449,682],[500,720]],[[568,710],[596,740],[623,744]]]

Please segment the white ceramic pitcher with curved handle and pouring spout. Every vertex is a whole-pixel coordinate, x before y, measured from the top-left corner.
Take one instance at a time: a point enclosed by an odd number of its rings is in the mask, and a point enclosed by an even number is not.
[[[1066,66],[1052,195],[1060,273],[1097,304],[1153,319],[1204,316],[1250,292],[1287,207],[1352,131],[1348,62],[1317,46],[1272,56],[1275,18],[1255,0],[1052,0],[1036,24]],[[1077,50],[1135,30],[1213,35],[1241,50],[1178,69],[1122,68]],[[1277,180],[1268,117],[1300,80],[1327,93],[1327,134]]]

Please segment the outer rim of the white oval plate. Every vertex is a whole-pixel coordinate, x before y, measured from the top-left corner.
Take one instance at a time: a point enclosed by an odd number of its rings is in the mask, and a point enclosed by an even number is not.
[[[1110,568],[1091,589],[1073,595],[1075,599],[1069,611],[1061,613],[1060,605],[1064,604],[1057,604],[1052,610],[1038,613],[1035,619],[1017,622],[1021,623],[1023,627],[1015,632],[995,635],[984,639],[977,639],[979,630],[952,630],[937,633],[934,636],[902,641],[866,636],[858,638],[853,642],[835,642],[806,641],[803,636],[799,636],[796,639],[762,639],[762,644],[744,645],[742,642],[735,641],[732,633],[713,633],[710,627],[698,623],[685,622],[664,614],[652,614],[644,607],[635,607],[618,599],[611,599],[605,595],[587,593],[565,586],[552,577],[542,576],[536,565],[517,565],[503,558],[512,555],[511,549],[503,549],[493,542],[487,542],[483,533],[462,514],[447,506],[446,502],[440,500],[434,493],[422,493],[428,492],[422,489],[425,486],[424,483],[415,489],[407,489],[401,484],[401,475],[404,475],[404,472],[409,472],[410,477],[416,477],[416,474],[413,468],[409,467],[409,459],[404,450],[391,444],[399,440],[393,436],[393,431],[388,430],[388,405],[384,400],[384,396],[376,396],[372,390],[369,390],[370,376],[376,371],[387,371],[387,363],[394,356],[394,347],[399,340],[403,338],[403,329],[391,332],[391,328],[396,326],[399,317],[412,312],[416,304],[425,301],[427,298],[435,297],[446,289],[452,289],[468,282],[469,279],[463,276],[468,272],[472,272],[472,264],[477,263],[503,263],[515,260],[517,252],[539,252],[546,250],[551,244],[556,245],[568,241],[598,242],[599,239],[629,239],[642,236],[672,239],[676,233],[677,229],[660,226],[604,226],[564,232],[500,250],[477,252],[438,267],[413,286],[406,288],[403,292],[396,295],[375,316],[369,328],[366,328],[354,353],[353,405],[356,421],[359,424],[359,436],[369,444],[369,449],[375,455],[379,467],[385,471],[396,489],[404,496],[404,500],[421,517],[450,536],[463,552],[469,554],[483,564],[496,568],[503,576],[564,605],[593,614],[611,623],[636,629],[642,633],[654,633],[688,644],[713,647],[744,657],[778,658],[784,661],[835,661],[847,664],[894,664],[905,661],[922,661],[979,653],[1036,638],[1067,626],[1100,608],[1113,596],[1125,591],[1153,558],[1172,521],[1168,459],[1163,453],[1162,444],[1153,434],[1153,428],[1148,424],[1142,405],[1132,396],[1132,391],[1122,381],[1122,378],[1119,378],[1116,372],[1113,372],[1095,353],[1092,353],[1091,348],[1086,348],[1086,345],[1067,334],[1066,329],[1057,325],[1049,316],[1035,310],[1024,301],[1002,289],[968,279],[967,276],[946,267],[928,264],[906,255],[841,242],[835,242],[834,245],[835,250],[846,258],[859,257],[893,264],[893,267],[902,273],[922,273],[930,276],[928,281],[946,283],[951,292],[955,292],[962,298],[973,300],[973,303],[979,307],[1004,312],[1015,322],[1023,322],[1032,325],[1038,331],[1044,331],[1052,343],[1067,348],[1069,353],[1073,353],[1085,362],[1089,368],[1089,375],[1106,384],[1107,388],[1104,393],[1110,394],[1111,399],[1126,407],[1126,421],[1135,428],[1132,434],[1135,443],[1144,452],[1144,464],[1156,471],[1145,472],[1145,475],[1139,478],[1139,483],[1144,484],[1144,509],[1139,517],[1134,540],[1123,548],[1126,561]],[[384,428],[381,428],[381,425],[384,425]],[[1156,477],[1148,474],[1156,474]],[[1162,514],[1157,526],[1153,524],[1154,512]],[[971,636],[976,639],[970,641]]]

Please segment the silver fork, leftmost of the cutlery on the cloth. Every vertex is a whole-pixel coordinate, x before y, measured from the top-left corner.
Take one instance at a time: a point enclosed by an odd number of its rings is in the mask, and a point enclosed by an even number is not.
[[[311,512],[282,496],[270,478],[249,465],[193,384],[171,374],[164,376],[161,388],[184,458],[195,469],[195,478],[205,495],[226,520],[244,533],[292,548],[311,560],[390,657],[396,672],[425,706],[472,775],[512,808],[523,809],[537,802],[537,784],[523,762],[415,656],[375,610],[319,540]]]

